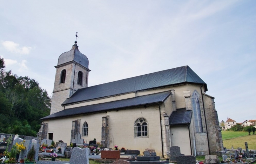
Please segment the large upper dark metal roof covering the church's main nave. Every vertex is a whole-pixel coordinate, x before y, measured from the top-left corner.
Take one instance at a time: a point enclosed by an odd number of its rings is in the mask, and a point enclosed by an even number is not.
[[[62,105],[181,83],[203,84],[207,91],[207,84],[189,66],[182,66],[82,88],[65,100]]]

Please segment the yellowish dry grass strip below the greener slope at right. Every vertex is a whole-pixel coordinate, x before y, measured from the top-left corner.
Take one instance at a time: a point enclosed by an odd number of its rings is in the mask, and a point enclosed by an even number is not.
[[[245,149],[244,142],[248,143],[249,150],[256,149],[256,135],[247,135],[247,136],[243,136],[243,137],[237,137],[234,139],[223,140],[223,145],[227,149],[231,149],[232,145],[233,145],[234,149],[237,149],[238,147]]]

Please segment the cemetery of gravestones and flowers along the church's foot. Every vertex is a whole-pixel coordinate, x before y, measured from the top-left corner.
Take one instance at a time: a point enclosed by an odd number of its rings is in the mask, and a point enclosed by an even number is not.
[[[22,138],[23,139],[22,139]],[[95,162],[113,164],[220,164],[220,163],[244,163],[255,162],[256,150],[249,150],[248,143],[245,142],[245,150],[242,148],[224,148],[217,155],[205,155],[205,159],[197,161],[195,156],[184,155],[178,146],[172,146],[168,152],[168,158],[160,158],[154,149],[128,150],[116,145],[112,148],[105,148],[96,139],[85,143],[81,136],[76,135],[70,143],[62,140],[43,139],[41,142],[37,138],[24,140],[25,136],[1,135],[0,138],[0,163],[20,163],[20,164],[89,164],[89,159]],[[4,150],[4,151],[3,151]],[[220,157],[221,156],[221,157]],[[62,161],[61,158],[70,159]]]

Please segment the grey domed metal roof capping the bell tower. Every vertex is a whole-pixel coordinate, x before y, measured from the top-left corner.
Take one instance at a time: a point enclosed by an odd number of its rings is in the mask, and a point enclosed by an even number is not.
[[[57,66],[65,64],[70,61],[75,61],[83,67],[89,69],[89,60],[86,57],[86,55],[82,54],[78,50],[78,46],[76,45],[76,43],[72,46],[72,49],[70,51],[64,52],[60,55]]]

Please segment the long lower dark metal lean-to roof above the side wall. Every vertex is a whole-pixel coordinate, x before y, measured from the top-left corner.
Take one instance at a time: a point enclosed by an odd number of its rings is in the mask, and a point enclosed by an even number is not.
[[[65,109],[63,111],[43,117],[41,118],[41,120],[57,118],[57,117],[65,117],[65,116],[77,115],[77,114],[85,114],[85,113],[91,113],[91,112],[108,111],[113,109],[122,109],[125,107],[132,107],[132,106],[162,103],[168,98],[168,96],[170,96],[170,94],[171,92],[167,91],[167,92],[160,92],[160,93],[151,94],[151,95],[138,96],[138,97],[129,98],[129,99],[117,100],[113,102]]]

